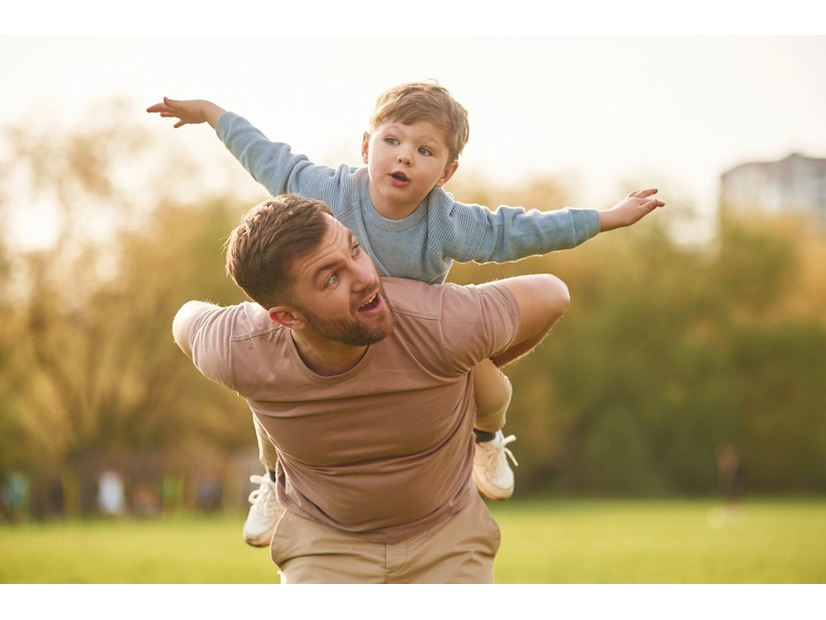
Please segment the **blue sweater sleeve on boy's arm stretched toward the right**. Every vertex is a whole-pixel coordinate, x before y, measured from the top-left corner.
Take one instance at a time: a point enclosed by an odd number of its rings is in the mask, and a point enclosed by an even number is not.
[[[599,211],[500,206],[495,211],[456,202],[446,192],[431,203],[431,240],[458,262],[503,263],[574,248],[599,233]],[[438,204],[443,202],[443,204]]]

